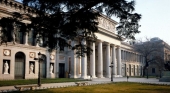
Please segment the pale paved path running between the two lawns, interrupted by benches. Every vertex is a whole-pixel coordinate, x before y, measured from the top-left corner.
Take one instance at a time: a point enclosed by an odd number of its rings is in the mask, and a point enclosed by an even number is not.
[[[111,83],[111,79],[110,78],[94,78],[92,79],[92,81],[86,81],[86,82],[88,82],[88,85]],[[126,77],[113,78],[113,82],[127,82],[127,78]],[[146,78],[131,78],[130,77],[128,79],[128,82],[170,85],[170,82],[159,82],[159,79],[156,79],[156,78],[146,79]],[[42,86],[38,87],[37,89],[59,88],[59,87],[70,87],[70,86],[76,86],[75,82],[42,84]],[[16,91],[16,89],[14,88],[14,86],[0,87],[0,92],[5,92],[5,91]]]

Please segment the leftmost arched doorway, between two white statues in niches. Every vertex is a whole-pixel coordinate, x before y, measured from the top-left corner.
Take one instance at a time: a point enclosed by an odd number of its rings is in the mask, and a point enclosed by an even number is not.
[[[25,78],[25,54],[18,52],[15,54],[15,79]]]

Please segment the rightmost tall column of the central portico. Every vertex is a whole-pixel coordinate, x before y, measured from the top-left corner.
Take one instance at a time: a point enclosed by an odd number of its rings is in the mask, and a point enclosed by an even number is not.
[[[121,69],[122,69],[122,64],[121,64],[121,50],[120,50],[120,46],[117,47],[117,53],[118,53],[118,57],[117,57],[117,68],[118,68],[118,75],[121,75]]]

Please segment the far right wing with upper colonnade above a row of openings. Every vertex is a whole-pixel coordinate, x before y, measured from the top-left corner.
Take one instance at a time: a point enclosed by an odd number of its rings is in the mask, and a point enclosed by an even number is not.
[[[143,73],[144,57],[135,51],[121,50],[121,62],[124,64],[124,76],[140,76]]]

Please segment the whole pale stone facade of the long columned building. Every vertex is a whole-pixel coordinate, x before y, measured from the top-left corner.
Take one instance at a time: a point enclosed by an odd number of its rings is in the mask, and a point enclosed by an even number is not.
[[[0,17],[10,16],[12,12],[32,13],[34,10],[24,7],[14,0],[0,0]],[[27,21],[28,22],[28,21]],[[110,78],[111,62],[114,77],[142,75],[143,57],[133,50],[131,45],[123,43],[115,34],[117,22],[102,16],[99,18],[98,40],[91,43],[93,53],[77,58],[75,51],[64,48],[64,51],[49,52],[48,48],[39,47],[31,34],[25,33],[24,43],[8,42],[0,46],[0,79],[34,79],[38,77],[38,53],[43,54],[40,62],[42,78]],[[71,45],[76,41],[69,41]],[[83,43],[86,43],[84,41]],[[8,68],[5,68],[6,63]],[[6,69],[8,72],[6,73]]]

